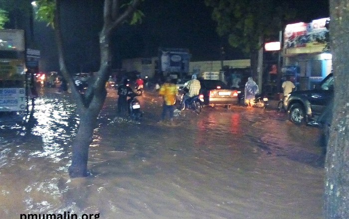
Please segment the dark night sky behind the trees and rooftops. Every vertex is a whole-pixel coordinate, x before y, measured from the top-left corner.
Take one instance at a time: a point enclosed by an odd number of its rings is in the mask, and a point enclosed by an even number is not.
[[[294,10],[305,10],[294,22],[310,22],[329,16],[328,0],[293,0]],[[99,68],[98,32],[102,25],[102,0],[65,0],[62,17],[68,68],[73,72],[97,71]],[[145,0],[141,10],[145,13],[142,24],[124,25],[113,34],[114,68],[120,59],[152,57],[159,47],[188,48],[191,61],[242,59],[238,49],[231,48],[227,40],[215,32],[211,19],[212,9],[203,0]],[[44,71],[57,71],[58,58],[53,33],[42,22],[34,23],[35,40],[41,50]]]

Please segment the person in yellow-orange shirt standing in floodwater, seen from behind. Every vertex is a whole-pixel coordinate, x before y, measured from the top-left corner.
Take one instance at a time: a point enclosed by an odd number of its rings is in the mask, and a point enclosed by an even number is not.
[[[174,120],[174,103],[177,95],[177,89],[175,84],[172,83],[172,79],[168,77],[166,82],[161,86],[159,94],[164,98],[163,112],[161,113],[161,120],[165,119],[166,112],[169,111],[169,117],[171,123]]]

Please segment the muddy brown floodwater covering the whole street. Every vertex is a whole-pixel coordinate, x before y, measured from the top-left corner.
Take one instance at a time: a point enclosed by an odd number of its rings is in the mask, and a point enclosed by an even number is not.
[[[274,109],[185,110],[157,123],[162,98],[140,98],[140,122],[116,116],[109,91],[90,146],[91,176],[70,179],[79,120],[69,94],[41,91],[29,122],[1,117],[0,218],[321,219],[318,130]],[[18,121],[18,122],[16,122]]]

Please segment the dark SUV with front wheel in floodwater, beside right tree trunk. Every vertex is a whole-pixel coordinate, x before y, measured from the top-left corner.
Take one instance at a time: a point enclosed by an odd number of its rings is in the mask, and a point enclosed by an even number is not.
[[[331,73],[313,90],[289,94],[284,101],[289,119],[295,124],[315,122],[333,98],[333,82],[334,76]]]

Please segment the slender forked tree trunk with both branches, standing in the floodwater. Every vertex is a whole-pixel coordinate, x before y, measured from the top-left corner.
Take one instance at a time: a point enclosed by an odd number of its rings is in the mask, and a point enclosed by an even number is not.
[[[58,45],[59,66],[63,77],[69,83],[73,99],[77,105],[77,114],[80,118],[79,129],[72,144],[72,163],[69,167],[71,177],[84,177],[88,175],[87,161],[89,146],[92,141],[93,131],[96,128],[97,116],[103,107],[107,96],[105,83],[109,77],[109,65],[111,59],[110,35],[111,31],[128,19],[135,11],[141,0],[131,0],[122,13],[119,13],[120,2],[118,0],[105,0],[104,2],[104,25],[100,33],[101,64],[93,83],[88,85],[84,95],[81,95],[74,85],[74,80],[69,74],[64,59],[63,40],[60,32],[60,3],[55,0],[54,27]]]

